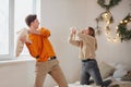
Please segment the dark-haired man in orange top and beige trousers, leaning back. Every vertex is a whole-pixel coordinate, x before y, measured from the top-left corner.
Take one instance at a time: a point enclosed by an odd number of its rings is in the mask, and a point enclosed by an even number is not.
[[[26,44],[31,55],[36,59],[35,87],[43,87],[47,74],[52,76],[59,87],[68,87],[53,48],[48,40],[50,30],[45,27],[38,28],[39,22],[36,14],[27,15],[25,22],[28,26],[28,38],[32,44],[28,44],[25,37],[22,37],[21,41]]]

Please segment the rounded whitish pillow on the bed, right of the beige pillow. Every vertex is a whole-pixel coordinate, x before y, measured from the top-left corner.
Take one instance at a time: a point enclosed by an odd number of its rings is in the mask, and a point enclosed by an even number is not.
[[[115,71],[115,73],[112,75],[115,78],[121,78],[121,77],[123,77],[128,73],[128,70],[122,64],[118,64],[116,66],[116,69],[117,70]]]

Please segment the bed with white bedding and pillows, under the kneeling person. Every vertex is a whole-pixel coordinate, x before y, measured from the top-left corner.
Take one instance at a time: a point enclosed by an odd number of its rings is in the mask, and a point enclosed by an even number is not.
[[[112,79],[109,87],[131,87],[131,70],[127,70],[122,64],[98,63],[99,71],[104,80]],[[58,87],[58,86],[55,86]],[[80,82],[69,84],[69,87],[100,87],[95,84],[80,85]]]

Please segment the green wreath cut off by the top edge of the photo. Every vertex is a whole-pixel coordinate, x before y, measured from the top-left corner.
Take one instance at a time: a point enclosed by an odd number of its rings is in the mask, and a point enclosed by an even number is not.
[[[109,10],[110,8],[117,5],[120,1],[121,1],[121,0],[110,0],[110,1],[109,1],[109,4],[105,4],[105,0],[97,0],[97,3],[98,3],[102,8],[106,9],[106,10]]]

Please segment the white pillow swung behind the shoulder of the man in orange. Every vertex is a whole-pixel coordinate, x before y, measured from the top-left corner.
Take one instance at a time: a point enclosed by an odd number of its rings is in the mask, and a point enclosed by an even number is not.
[[[28,39],[28,30],[26,28],[22,28],[17,33],[17,41],[16,41],[16,48],[15,48],[15,57],[19,57],[23,50],[24,44],[20,40],[21,37],[26,36],[26,41],[32,44],[32,41]]]

